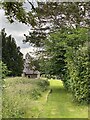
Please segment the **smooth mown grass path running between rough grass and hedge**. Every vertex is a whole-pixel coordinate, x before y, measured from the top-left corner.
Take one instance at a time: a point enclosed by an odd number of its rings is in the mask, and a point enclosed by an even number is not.
[[[88,107],[73,103],[70,93],[68,93],[62,82],[51,80],[52,93],[48,97],[39,118],[87,118]]]

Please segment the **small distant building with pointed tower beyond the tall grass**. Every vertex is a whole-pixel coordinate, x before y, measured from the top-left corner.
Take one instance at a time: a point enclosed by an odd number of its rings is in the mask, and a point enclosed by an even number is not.
[[[28,78],[39,78],[40,72],[35,69],[35,66],[31,65],[31,62],[32,62],[32,58],[29,55],[29,53],[27,53],[24,59],[24,69],[22,76]]]

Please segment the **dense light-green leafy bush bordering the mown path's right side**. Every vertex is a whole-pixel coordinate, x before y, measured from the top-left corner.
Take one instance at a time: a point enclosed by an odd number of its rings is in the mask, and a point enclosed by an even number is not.
[[[79,46],[77,50],[69,48],[66,53],[67,73],[64,80],[65,87],[72,91],[79,102],[89,102],[90,71],[89,46]]]

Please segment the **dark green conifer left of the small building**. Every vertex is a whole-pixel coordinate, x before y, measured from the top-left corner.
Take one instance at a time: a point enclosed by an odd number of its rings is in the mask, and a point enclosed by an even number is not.
[[[23,54],[20,47],[17,47],[14,38],[7,36],[5,29],[1,31],[2,36],[2,61],[11,71],[11,76],[20,76],[23,70]]]

